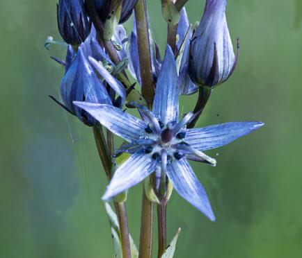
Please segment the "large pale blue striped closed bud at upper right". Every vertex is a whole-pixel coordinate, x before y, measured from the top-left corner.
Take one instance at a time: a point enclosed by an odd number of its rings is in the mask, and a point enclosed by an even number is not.
[[[235,58],[225,18],[227,0],[207,0],[205,11],[190,44],[189,74],[193,83],[213,88],[232,75]]]

